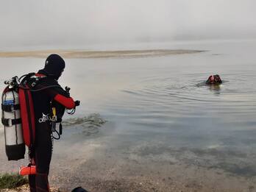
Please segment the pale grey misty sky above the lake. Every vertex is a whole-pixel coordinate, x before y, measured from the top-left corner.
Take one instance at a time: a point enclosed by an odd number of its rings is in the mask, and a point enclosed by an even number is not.
[[[255,0],[0,0],[0,49],[256,38]]]

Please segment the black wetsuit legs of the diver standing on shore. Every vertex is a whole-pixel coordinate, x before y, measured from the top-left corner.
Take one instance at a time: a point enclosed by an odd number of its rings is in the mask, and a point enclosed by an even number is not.
[[[48,174],[51,163],[51,132],[47,123],[40,124],[37,129],[36,136],[36,191],[50,191]]]

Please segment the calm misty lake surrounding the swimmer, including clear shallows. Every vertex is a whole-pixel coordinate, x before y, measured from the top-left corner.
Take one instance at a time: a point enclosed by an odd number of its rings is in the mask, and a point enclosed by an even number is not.
[[[51,183],[68,189],[84,184],[91,191],[108,191],[121,181],[143,189],[142,182],[159,191],[254,190],[256,40],[106,49],[200,51],[68,57],[60,84],[71,87],[74,99],[81,100],[73,117],[99,113],[107,123],[64,127],[63,139],[54,141]],[[0,80],[37,71],[44,60],[1,57]],[[223,84],[205,85],[212,74],[219,74]],[[65,122],[70,118],[65,115]],[[3,145],[0,171],[7,166],[13,171],[19,163],[7,162]],[[104,187],[93,187],[97,182]]]

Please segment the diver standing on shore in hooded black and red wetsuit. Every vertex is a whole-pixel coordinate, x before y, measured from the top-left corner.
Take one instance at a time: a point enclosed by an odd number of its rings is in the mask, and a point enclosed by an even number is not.
[[[51,126],[54,123],[52,107],[57,108],[57,121],[61,121],[65,108],[73,109],[79,105],[68,91],[60,87],[57,79],[63,73],[65,61],[57,54],[51,54],[46,59],[45,67],[35,74],[37,83],[35,90],[46,88],[41,91],[32,92],[35,110],[35,145],[30,149],[32,164],[35,163],[36,174],[29,175],[29,188],[31,192],[50,191],[48,174],[51,162]]]

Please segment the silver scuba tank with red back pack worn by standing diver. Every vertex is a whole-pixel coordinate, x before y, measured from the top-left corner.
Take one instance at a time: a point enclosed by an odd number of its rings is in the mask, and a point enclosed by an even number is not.
[[[24,79],[32,74],[24,75]],[[22,78],[22,77],[21,77]],[[25,145],[29,152],[35,143],[35,114],[32,96],[26,83],[13,77],[4,84],[1,96],[1,123],[4,125],[5,152],[8,160],[24,159]]]

